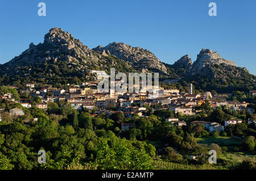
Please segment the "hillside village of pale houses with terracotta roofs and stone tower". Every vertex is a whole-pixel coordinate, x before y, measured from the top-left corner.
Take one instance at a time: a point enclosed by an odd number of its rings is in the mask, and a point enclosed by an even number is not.
[[[101,73],[101,71],[100,71]],[[145,112],[146,108],[152,108],[156,110],[170,110],[174,113],[181,113],[182,115],[193,116],[200,113],[201,110],[196,109],[202,104],[208,103],[213,110],[218,107],[231,108],[232,111],[247,111],[254,113],[254,110],[248,107],[249,103],[228,101],[227,98],[232,94],[214,94],[211,92],[205,92],[204,95],[193,94],[193,85],[189,84],[188,92],[180,92],[179,90],[164,90],[163,87],[158,87],[158,97],[152,96],[153,93],[147,92],[99,92],[97,89],[100,82],[83,82],[80,85],[68,85],[69,88],[57,89],[52,85],[38,86],[35,83],[27,83],[26,89],[19,89],[16,85],[9,85],[11,89],[16,89],[18,92],[26,92],[31,98],[39,98],[40,101],[31,104],[31,99],[19,99],[15,100],[13,95],[6,93],[0,95],[0,99],[9,100],[10,103],[19,103],[25,108],[36,106],[40,109],[47,110],[48,103],[54,102],[59,104],[70,104],[78,111],[92,110],[92,117],[97,117],[102,113],[106,113],[107,116],[111,116],[113,113],[123,112],[125,118],[138,115],[140,117],[148,117]],[[154,92],[154,91],[153,91]],[[256,95],[256,90],[251,90],[252,96]],[[153,98],[154,97],[154,98]],[[5,114],[13,117],[23,116],[25,113],[20,108],[13,108],[9,111],[5,111],[0,108],[1,115]],[[36,121],[25,119],[24,122]],[[1,121],[1,117],[0,117]],[[165,117],[165,121],[171,122],[177,127],[186,125],[184,120],[180,120],[177,117]],[[216,123],[215,120],[211,121],[192,121],[190,124],[204,124],[208,131],[224,131],[224,128],[230,124],[237,123],[255,123],[255,119],[241,120],[241,119],[229,119],[225,120],[224,124]],[[120,125],[122,130],[133,128],[132,123],[122,123]]]

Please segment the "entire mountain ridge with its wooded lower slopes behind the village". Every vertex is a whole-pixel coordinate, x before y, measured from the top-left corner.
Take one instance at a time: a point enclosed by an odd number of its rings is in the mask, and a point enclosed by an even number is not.
[[[7,83],[20,77],[27,81],[36,78],[65,83],[67,78],[72,80],[72,77],[82,81],[92,78],[88,70],[109,72],[112,67],[125,73],[158,72],[162,78],[189,81],[197,81],[198,76],[230,84],[230,79],[244,79],[246,76],[254,82],[256,79],[246,68],[238,68],[233,61],[210,49],[201,49],[194,62],[185,54],[171,65],[160,61],[147,49],[125,43],[113,42],[105,47],[99,45],[90,49],[68,31],[56,27],[46,33],[43,43],[31,43],[19,56],[0,65],[0,74],[5,77],[2,82],[8,79]]]

